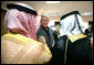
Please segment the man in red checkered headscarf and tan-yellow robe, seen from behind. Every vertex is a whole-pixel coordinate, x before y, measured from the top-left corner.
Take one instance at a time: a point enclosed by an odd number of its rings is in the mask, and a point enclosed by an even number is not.
[[[52,54],[36,40],[38,13],[25,3],[9,3],[1,36],[1,64],[46,64]],[[45,57],[46,56],[46,57]]]

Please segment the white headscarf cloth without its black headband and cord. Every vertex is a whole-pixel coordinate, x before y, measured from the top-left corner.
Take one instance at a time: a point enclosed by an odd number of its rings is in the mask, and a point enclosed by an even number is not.
[[[85,28],[84,22],[79,14],[77,14],[77,19],[79,19],[79,23],[81,25],[81,29],[84,30],[84,28]],[[75,35],[75,34],[81,33],[80,30],[79,30],[79,26],[77,26],[77,22],[76,22],[75,29],[71,32],[71,30],[74,26],[75,21],[77,21],[77,20],[75,20],[74,14],[69,15],[65,19],[62,19],[61,22],[60,22],[61,23],[60,36],[62,36],[62,35]]]

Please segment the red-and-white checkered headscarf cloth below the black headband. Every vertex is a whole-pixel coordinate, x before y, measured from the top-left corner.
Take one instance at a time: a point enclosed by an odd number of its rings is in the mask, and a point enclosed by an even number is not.
[[[9,9],[6,14],[6,28],[18,34],[36,40],[38,17],[18,9]]]

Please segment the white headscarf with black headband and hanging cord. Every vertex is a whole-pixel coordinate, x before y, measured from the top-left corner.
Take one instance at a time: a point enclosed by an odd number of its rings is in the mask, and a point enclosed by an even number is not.
[[[85,25],[79,11],[69,12],[61,18],[60,36],[83,33]]]

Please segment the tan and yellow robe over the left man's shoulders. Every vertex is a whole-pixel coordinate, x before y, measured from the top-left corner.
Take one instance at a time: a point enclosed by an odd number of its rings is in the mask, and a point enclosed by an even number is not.
[[[46,44],[21,34],[1,37],[1,64],[45,64],[52,57]]]

